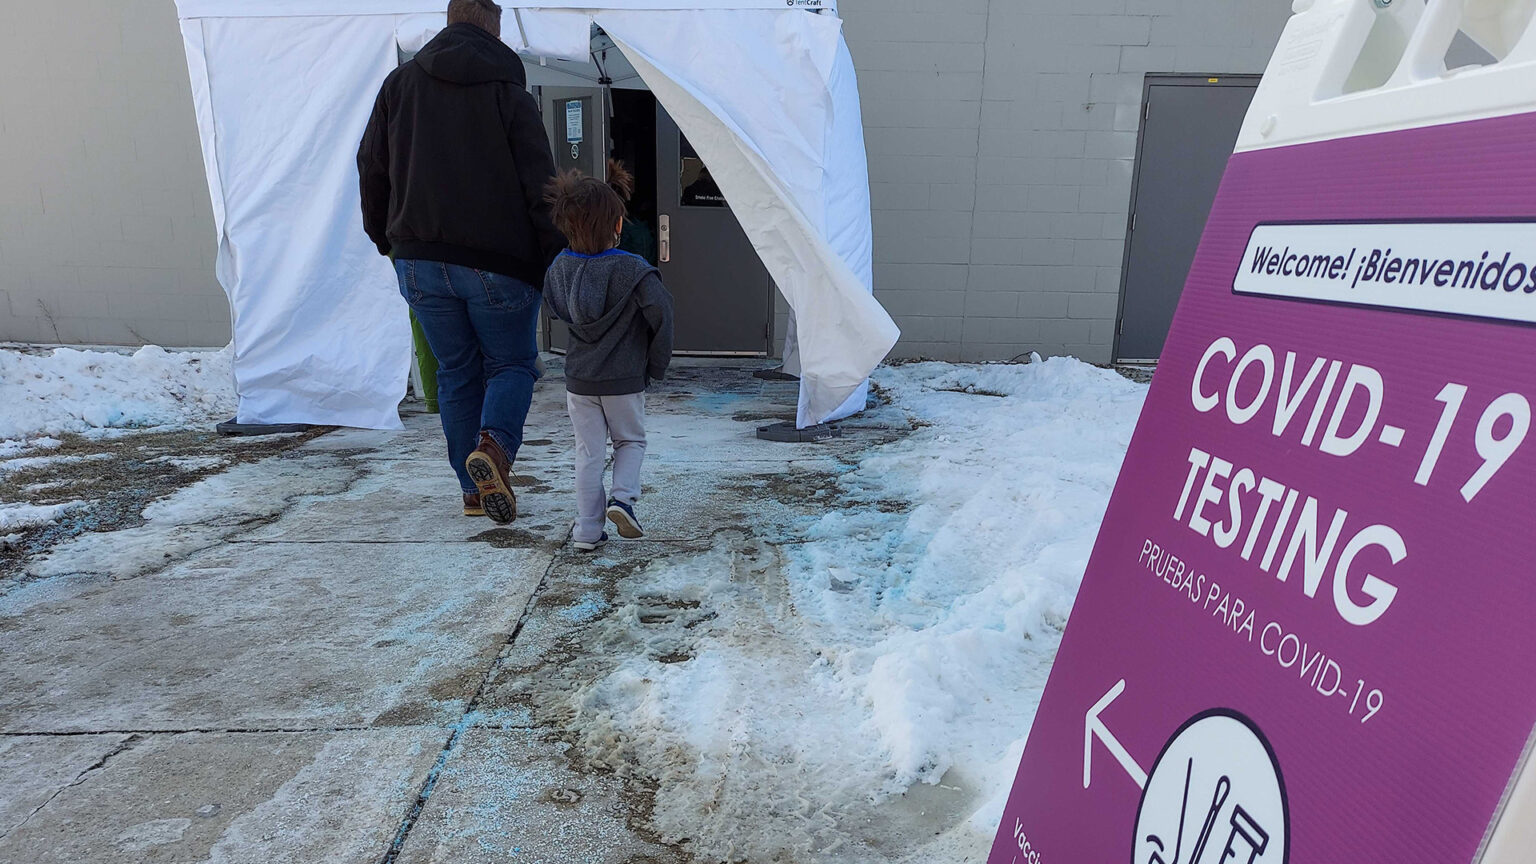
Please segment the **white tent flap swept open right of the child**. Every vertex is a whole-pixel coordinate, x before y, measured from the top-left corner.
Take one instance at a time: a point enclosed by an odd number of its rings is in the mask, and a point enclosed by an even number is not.
[[[900,335],[866,280],[822,231],[828,195],[836,192],[826,183],[826,154],[836,129],[829,78],[840,22],[793,11],[610,11],[598,14],[598,25],[710,166],[794,309],[802,383],[797,423],[831,420]],[[719,38],[722,32],[734,38]],[[863,177],[860,221],[868,224]]]

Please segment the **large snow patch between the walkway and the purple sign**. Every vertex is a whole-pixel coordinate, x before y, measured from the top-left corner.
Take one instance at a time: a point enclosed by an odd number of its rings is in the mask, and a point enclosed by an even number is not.
[[[645,766],[651,829],[700,858],[985,856],[1146,397],[1068,358],[876,381],[915,430],[831,507],[760,503],[590,636],[624,660],[573,696],[584,743]]]

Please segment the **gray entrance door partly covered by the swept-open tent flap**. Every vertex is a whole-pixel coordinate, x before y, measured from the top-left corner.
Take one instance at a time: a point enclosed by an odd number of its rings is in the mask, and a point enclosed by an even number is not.
[[[662,278],[676,301],[676,351],[765,357],[773,283],[710,171],[656,108]]]

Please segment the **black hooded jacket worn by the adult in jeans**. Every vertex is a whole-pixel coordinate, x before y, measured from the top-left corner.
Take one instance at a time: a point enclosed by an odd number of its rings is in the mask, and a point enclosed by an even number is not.
[[[565,238],[544,203],[554,157],[525,85],[518,54],[464,23],[384,78],[358,148],[362,228],[381,254],[544,286]]]

